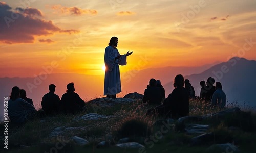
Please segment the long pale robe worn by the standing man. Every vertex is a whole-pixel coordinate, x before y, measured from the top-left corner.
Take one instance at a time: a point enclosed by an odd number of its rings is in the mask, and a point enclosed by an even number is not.
[[[104,95],[115,95],[120,93],[121,79],[119,65],[126,65],[126,55],[122,55],[121,58],[115,58],[120,55],[117,49],[112,46],[108,46],[105,49],[105,81],[104,81]],[[119,64],[119,65],[118,65]]]

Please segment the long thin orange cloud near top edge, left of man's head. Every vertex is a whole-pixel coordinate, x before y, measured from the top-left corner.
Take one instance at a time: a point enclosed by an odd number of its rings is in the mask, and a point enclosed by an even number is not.
[[[71,15],[83,15],[83,14],[91,14],[95,15],[98,12],[96,10],[90,10],[90,9],[81,9],[78,7],[63,7],[61,5],[54,5],[51,7],[53,10],[57,10],[58,12],[62,14],[71,14]]]

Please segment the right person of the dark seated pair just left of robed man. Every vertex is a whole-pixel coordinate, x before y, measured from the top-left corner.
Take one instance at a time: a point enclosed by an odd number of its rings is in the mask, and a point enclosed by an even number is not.
[[[84,101],[75,93],[74,83],[69,83],[67,85],[67,92],[61,97],[60,103],[63,106],[63,111],[65,114],[76,113],[85,109]]]

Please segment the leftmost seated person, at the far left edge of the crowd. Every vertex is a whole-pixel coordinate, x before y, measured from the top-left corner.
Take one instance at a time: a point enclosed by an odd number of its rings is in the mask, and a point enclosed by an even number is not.
[[[12,88],[10,100],[8,101],[8,116],[11,122],[16,124],[25,123],[35,117],[35,107],[19,97],[20,89]]]

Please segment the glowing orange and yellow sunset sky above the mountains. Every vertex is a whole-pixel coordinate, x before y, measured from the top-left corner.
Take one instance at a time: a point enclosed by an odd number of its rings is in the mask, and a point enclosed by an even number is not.
[[[256,60],[256,1],[2,1],[0,77],[103,75],[104,49],[133,50],[121,72]]]

